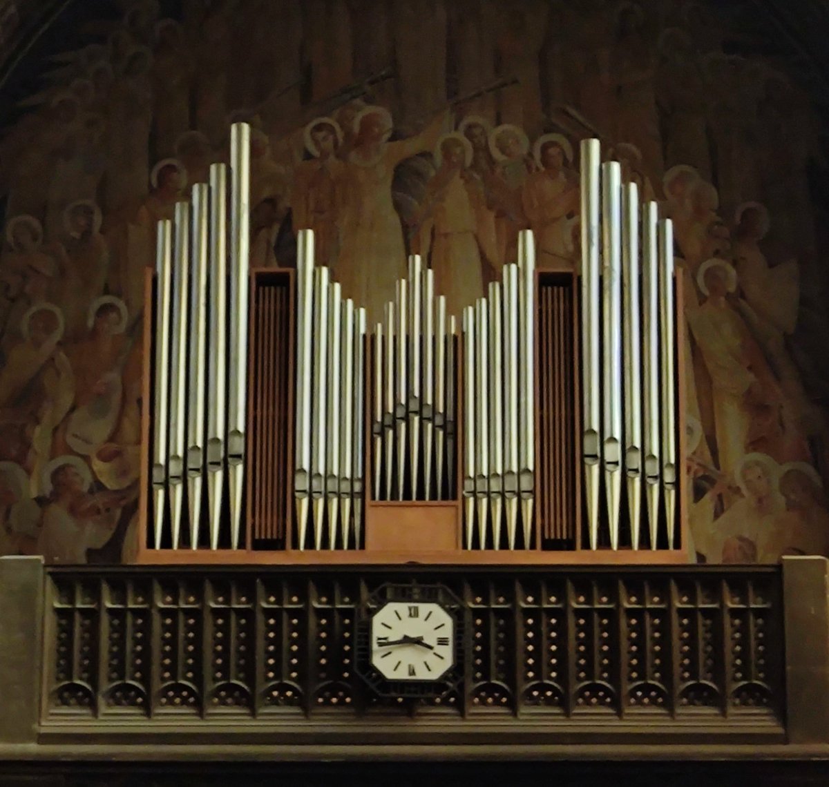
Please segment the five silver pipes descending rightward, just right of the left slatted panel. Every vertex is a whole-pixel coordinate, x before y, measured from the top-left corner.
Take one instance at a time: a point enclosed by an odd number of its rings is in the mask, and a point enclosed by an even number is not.
[[[361,545],[366,309],[314,266],[313,232],[297,257],[297,397],[293,494],[299,549]]]

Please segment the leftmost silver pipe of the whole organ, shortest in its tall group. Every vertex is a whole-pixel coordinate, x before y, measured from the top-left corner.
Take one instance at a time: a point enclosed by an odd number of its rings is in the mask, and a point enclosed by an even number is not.
[[[153,543],[161,548],[167,509],[170,425],[170,318],[172,308],[172,221],[158,222],[156,239],[155,383],[153,386]]]

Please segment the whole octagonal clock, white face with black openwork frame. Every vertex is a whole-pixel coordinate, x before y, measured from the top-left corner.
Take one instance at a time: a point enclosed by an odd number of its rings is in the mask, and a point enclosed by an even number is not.
[[[363,606],[357,671],[386,697],[440,697],[462,674],[462,607],[442,585],[384,585]]]

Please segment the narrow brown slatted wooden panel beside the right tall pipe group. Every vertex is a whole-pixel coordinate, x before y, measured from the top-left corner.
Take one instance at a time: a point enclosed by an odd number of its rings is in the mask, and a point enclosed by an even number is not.
[[[541,547],[546,549],[575,548],[573,310],[573,276],[569,273],[539,273],[536,494]]]

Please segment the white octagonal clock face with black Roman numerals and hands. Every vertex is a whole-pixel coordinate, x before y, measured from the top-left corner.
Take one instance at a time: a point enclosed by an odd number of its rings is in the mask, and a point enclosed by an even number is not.
[[[371,618],[371,665],[384,678],[437,680],[454,663],[454,620],[439,604],[390,601]]]

